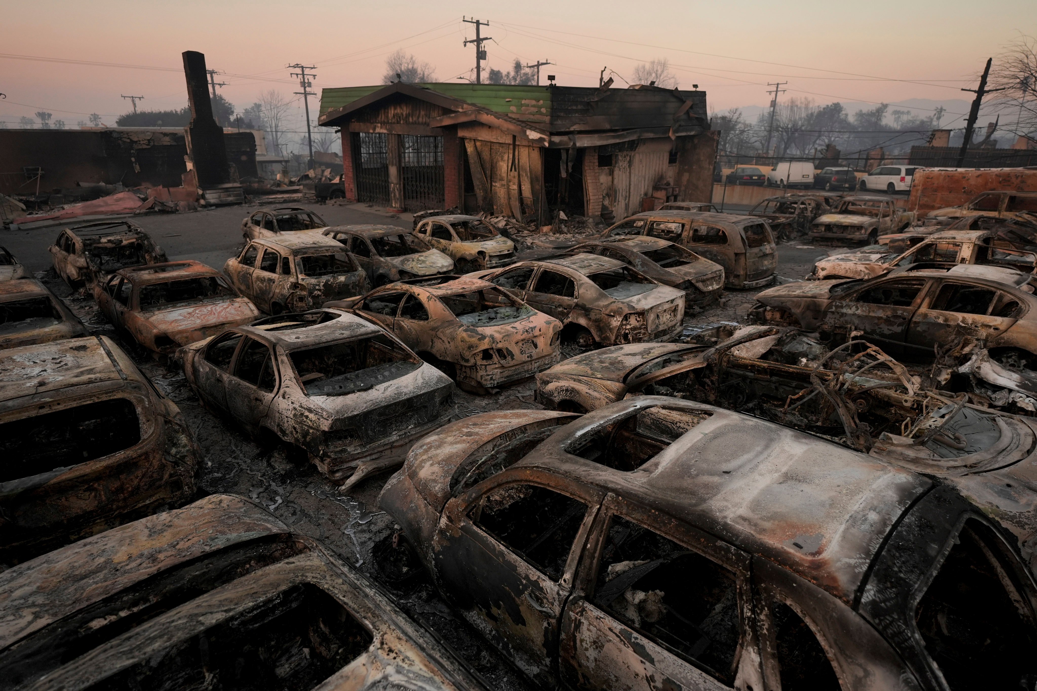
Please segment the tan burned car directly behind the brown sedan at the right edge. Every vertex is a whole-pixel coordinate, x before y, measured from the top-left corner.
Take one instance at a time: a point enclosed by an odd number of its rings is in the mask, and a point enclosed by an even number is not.
[[[810,278],[871,279],[896,269],[949,269],[957,265],[1003,266],[1037,272],[1037,254],[998,247],[998,233],[987,230],[942,230],[899,254],[889,246],[870,246],[860,252],[818,260]],[[1005,244],[1002,242],[1002,244]]]

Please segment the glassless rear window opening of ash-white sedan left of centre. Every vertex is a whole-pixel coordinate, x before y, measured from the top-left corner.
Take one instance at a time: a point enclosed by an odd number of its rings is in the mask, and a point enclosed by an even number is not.
[[[414,372],[421,361],[387,336],[372,336],[290,353],[307,396],[344,396]]]

